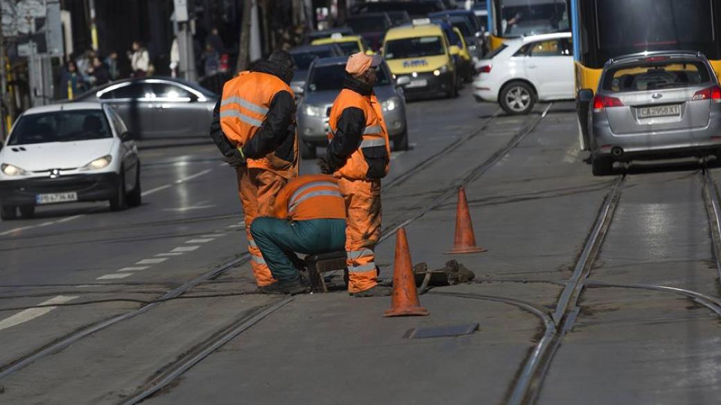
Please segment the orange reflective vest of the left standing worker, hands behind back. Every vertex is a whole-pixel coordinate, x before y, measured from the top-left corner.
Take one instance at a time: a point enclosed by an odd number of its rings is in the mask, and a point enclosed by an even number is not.
[[[223,86],[221,101],[221,128],[226,138],[236,147],[244,146],[260,130],[270,102],[275,94],[293,90],[284,81],[272,74],[241,72]],[[295,127],[295,123],[293,123]],[[247,159],[249,168],[267,169],[280,176],[291,178],[298,175],[298,133],[293,135],[293,156],[276,156],[268,153],[261,159]]]

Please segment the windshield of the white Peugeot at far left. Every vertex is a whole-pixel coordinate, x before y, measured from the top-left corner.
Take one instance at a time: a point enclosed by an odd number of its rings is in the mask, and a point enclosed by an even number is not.
[[[112,138],[105,112],[71,110],[24,115],[12,131],[8,145],[88,141]]]

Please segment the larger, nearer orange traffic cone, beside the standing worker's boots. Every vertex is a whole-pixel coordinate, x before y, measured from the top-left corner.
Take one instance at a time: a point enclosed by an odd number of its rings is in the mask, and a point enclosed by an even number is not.
[[[405,228],[400,228],[396,233],[396,259],[393,267],[391,309],[385,311],[384,316],[428,315],[428,309],[420,306],[418,301],[411,263]]]

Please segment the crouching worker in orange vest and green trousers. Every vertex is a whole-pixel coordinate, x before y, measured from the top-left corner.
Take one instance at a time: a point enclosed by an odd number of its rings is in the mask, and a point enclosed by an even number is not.
[[[296,177],[275,199],[273,218],[256,218],[250,233],[273,278],[266,294],[307,293],[293,261],[294,252],[319,254],[344,250],[345,200],[337,180],[317,174]]]

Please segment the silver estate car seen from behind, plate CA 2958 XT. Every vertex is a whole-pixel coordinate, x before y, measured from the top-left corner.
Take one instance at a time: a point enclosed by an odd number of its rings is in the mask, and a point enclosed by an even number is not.
[[[581,91],[580,100],[590,100]],[[704,55],[663,51],[613,58],[589,109],[593,174],[614,161],[704,156],[721,148],[721,88]]]

